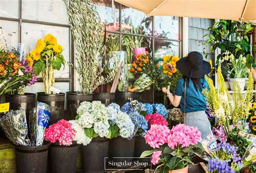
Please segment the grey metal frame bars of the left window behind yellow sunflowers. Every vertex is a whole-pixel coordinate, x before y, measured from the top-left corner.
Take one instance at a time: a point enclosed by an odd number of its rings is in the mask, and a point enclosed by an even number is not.
[[[59,26],[59,27],[68,27],[69,28],[69,61],[73,63],[73,40],[70,31],[70,26],[66,24],[58,24],[52,22],[44,22],[38,20],[29,20],[22,18],[22,0],[18,1],[18,18],[9,18],[9,17],[0,17],[0,20],[7,20],[12,22],[18,22],[18,43],[21,43],[22,40],[22,23],[31,23],[31,24],[40,24],[40,25],[49,25],[49,26]],[[73,91],[74,77],[73,69],[69,67],[69,78],[55,78],[55,82],[69,82],[69,91]],[[38,79],[38,82],[43,82],[42,78]]]

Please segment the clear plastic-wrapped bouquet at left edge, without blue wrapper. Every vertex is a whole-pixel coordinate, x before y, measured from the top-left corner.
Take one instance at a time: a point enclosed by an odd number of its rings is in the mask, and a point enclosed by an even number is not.
[[[25,110],[10,110],[0,117],[0,126],[8,139],[19,146],[31,146]]]

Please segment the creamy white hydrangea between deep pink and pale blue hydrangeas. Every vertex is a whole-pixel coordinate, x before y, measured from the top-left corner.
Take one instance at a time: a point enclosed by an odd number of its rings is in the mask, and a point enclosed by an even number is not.
[[[70,120],[69,122],[72,123],[72,128],[76,130],[74,141],[77,141],[77,144],[83,144],[84,146],[87,146],[87,144],[89,144],[92,139],[85,135],[84,128],[79,126],[78,120]]]

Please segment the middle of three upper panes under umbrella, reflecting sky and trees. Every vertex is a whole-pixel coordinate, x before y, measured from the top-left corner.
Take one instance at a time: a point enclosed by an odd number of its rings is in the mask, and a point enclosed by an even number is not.
[[[152,35],[152,17],[123,5],[121,15],[122,31],[147,36]]]

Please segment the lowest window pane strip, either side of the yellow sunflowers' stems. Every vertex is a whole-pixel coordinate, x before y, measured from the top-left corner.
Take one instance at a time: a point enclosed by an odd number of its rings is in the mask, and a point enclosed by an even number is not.
[[[60,92],[65,93],[69,91],[69,82],[56,82],[56,88],[60,89]],[[26,86],[26,93],[44,92],[43,82],[36,82],[32,86]]]

